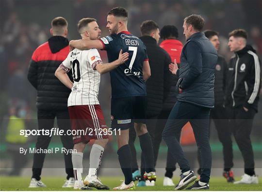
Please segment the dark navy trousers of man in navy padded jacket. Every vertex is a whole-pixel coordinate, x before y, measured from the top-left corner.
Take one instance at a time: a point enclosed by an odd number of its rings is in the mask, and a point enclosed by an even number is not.
[[[212,165],[212,152],[209,143],[209,116],[210,108],[177,101],[162,133],[162,137],[172,156],[178,162],[181,172],[187,172],[191,170],[191,167],[177,138],[182,127],[190,122],[201,154],[202,173],[200,181],[205,183],[209,183]]]

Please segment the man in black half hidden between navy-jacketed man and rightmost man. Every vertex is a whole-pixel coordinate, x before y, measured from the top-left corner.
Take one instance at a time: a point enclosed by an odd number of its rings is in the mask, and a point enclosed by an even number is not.
[[[207,38],[213,44],[216,51],[219,50],[219,38],[218,33],[211,30],[204,31]],[[225,94],[227,85],[227,73],[228,64],[224,57],[218,55],[215,66],[215,80],[214,80],[214,108],[211,109],[210,119],[213,120],[215,128],[217,130],[218,139],[223,145],[223,157],[224,157],[224,172],[223,176],[228,182],[234,182],[234,175],[231,168],[233,167],[233,149],[232,141],[230,139],[231,132],[227,126],[228,121],[226,116],[225,107]],[[211,121],[210,121],[211,122]],[[210,134],[210,133],[209,133]],[[201,166],[200,152],[197,153],[198,162]],[[201,168],[197,170],[198,175],[201,175]]]

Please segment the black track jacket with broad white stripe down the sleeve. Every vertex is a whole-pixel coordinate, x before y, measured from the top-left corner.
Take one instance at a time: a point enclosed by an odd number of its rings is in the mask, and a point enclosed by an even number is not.
[[[226,105],[252,107],[258,111],[261,87],[260,61],[256,51],[250,45],[235,52],[229,62],[228,75]]]

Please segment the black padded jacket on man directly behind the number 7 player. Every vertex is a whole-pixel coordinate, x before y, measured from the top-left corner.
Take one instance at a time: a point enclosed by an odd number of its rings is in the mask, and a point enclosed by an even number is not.
[[[151,70],[151,76],[147,80],[147,117],[155,117],[163,109],[164,100],[167,99],[171,86],[171,72],[168,65],[171,58],[164,49],[157,45],[151,36],[141,36],[140,39],[147,47],[147,55]],[[173,84],[175,86],[175,83]],[[173,105],[172,105],[173,107]]]

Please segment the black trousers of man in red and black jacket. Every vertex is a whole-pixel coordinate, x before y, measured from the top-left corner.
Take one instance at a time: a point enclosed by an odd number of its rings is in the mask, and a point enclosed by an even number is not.
[[[65,132],[68,129],[71,129],[70,119],[68,111],[46,111],[46,110],[38,110],[37,111],[37,119],[38,119],[38,129],[51,129],[54,127],[54,119],[57,119],[57,124],[59,129],[63,129]],[[63,143],[63,147],[66,149],[73,149],[73,139],[71,135],[62,135],[60,136],[61,141]],[[35,148],[39,149],[47,149],[49,146],[49,142],[51,140],[51,137],[49,135],[39,135],[37,137],[37,142],[35,145]],[[45,154],[44,153],[34,153],[33,155],[33,176],[32,178],[35,178],[36,180],[40,180],[41,172],[45,160]],[[73,173],[73,165],[72,165],[72,157],[71,153],[68,155],[64,155],[65,158],[65,164],[66,164],[66,174],[67,179],[70,177],[74,177]]]

